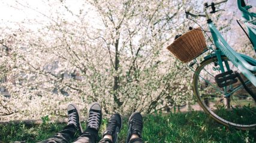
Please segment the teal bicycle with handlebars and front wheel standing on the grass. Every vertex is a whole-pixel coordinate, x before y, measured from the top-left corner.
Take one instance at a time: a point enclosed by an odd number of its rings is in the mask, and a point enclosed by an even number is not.
[[[224,2],[227,0],[212,2],[212,4],[205,3],[204,14],[193,14],[190,13],[191,6],[186,8],[187,18],[189,15],[206,17],[216,47],[213,48],[213,45],[210,45],[206,49],[198,50],[192,63],[188,65],[194,71],[193,91],[198,104],[217,122],[237,129],[256,129],[256,60],[234,51],[216,29],[208,13],[208,8],[212,8],[210,13],[218,12],[215,6]],[[251,6],[246,6],[243,0],[237,0],[237,4],[245,17],[243,22],[248,27],[252,44],[256,45],[256,30],[251,26],[255,24],[256,14],[248,11]],[[198,44],[198,42],[195,43]],[[210,54],[198,64],[197,57],[206,51],[210,51]],[[197,68],[194,70],[195,64]]]

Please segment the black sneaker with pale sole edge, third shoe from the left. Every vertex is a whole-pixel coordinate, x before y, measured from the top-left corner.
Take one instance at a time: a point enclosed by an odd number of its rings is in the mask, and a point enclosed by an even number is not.
[[[107,123],[107,129],[103,133],[103,137],[105,135],[111,135],[112,136],[112,142],[116,143],[118,142],[118,133],[122,129],[122,117],[120,114],[113,114],[110,119],[109,123]]]

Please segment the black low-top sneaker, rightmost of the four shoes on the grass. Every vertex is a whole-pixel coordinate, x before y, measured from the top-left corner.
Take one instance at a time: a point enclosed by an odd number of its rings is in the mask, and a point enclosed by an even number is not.
[[[143,119],[141,114],[137,112],[133,113],[131,117],[129,117],[128,134],[127,134],[126,143],[129,142],[132,134],[138,135],[138,137],[141,138],[142,128],[143,128]]]

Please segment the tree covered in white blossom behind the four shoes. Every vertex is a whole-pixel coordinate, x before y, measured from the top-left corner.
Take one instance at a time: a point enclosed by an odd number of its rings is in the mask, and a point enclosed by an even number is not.
[[[11,95],[0,97],[1,120],[65,116],[68,102],[86,111],[97,101],[106,114],[152,113],[193,102],[193,73],[165,49],[187,31],[189,3],[89,0],[73,10],[66,1],[47,1],[55,7],[44,14],[16,2],[16,9],[46,19],[16,23],[17,29],[1,35],[10,48],[1,57],[2,77],[9,79],[2,86]]]

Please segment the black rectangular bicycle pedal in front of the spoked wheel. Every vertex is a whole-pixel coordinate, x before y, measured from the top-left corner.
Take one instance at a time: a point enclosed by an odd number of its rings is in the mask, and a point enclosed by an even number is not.
[[[233,70],[225,71],[224,73],[220,73],[215,76],[215,82],[220,88],[223,88],[224,86],[236,83],[238,81],[236,77],[237,74],[234,74]]]

